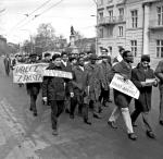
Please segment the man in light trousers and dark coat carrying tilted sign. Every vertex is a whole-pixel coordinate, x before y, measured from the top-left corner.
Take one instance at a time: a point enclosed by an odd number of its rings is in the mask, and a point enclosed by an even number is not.
[[[131,78],[131,64],[134,61],[133,53],[130,51],[124,51],[123,52],[123,61],[118,62],[115,64],[112,69],[112,76],[117,73],[124,77],[124,80],[130,80]],[[116,119],[118,118],[120,113],[123,117],[123,120],[125,122],[126,129],[127,129],[127,134],[128,138],[136,140],[137,136],[134,133],[133,125],[131,125],[131,120],[130,120],[130,114],[129,114],[129,103],[130,103],[131,97],[127,96],[126,94],[123,94],[118,90],[114,89],[114,102],[117,106],[118,113],[116,114]],[[115,118],[112,115],[109,118],[109,125],[113,125],[115,122]],[[113,127],[113,126],[112,126]]]

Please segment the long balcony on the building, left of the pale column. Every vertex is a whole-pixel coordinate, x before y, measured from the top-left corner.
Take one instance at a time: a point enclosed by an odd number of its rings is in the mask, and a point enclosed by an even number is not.
[[[115,25],[118,23],[125,23],[124,16],[105,16],[99,20],[99,25]]]

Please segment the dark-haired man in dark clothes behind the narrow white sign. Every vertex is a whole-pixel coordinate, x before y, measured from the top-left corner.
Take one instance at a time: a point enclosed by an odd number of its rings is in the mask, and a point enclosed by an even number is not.
[[[52,63],[50,63],[47,70],[65,71],[61,66],[61,56],[54,54],[52,57]],[[42,82],[42,99],[45,102],[49,101],[51,106],[51,122],[52,134],[58,135],[58,118],[64,110],[65,100],[65,80],[55,76],[45,76]],[[73,96],[73,93],[71,93]]]

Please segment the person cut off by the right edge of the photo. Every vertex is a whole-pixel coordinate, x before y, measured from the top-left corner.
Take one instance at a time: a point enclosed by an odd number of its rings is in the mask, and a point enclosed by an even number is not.
[[[160,80],[159,90],[160,90],[160,115],[159,123],[163,126],[163,60],[161,60],[154,72],[155,76]]]

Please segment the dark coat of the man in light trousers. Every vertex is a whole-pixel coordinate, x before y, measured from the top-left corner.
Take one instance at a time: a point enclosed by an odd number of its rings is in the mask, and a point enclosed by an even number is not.
[[[127,76],[128,80],[131,77],[131,66],[127,64],[124,60],[118,62],[112,68],[112,77],[117,73],[120,75]],[[128,108],[131,97],[114,89],[114,102],[120,108]]]

